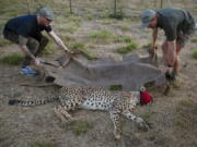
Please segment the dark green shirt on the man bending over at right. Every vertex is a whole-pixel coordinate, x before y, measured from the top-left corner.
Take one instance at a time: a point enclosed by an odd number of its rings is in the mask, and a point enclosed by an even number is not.
[[[177,33],[184,34],[194,27],[195,22],[190,13],[178,8],[158,10],[158,27],[165,32],[169,41],[175,40]]]

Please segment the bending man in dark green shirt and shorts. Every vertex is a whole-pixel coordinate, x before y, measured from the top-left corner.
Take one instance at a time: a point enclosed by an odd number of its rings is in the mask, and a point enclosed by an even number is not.
[[[166,77],[175,79],[179,70],[178,53],[186,40],[195,33],[194,17],[186,10],[178,8],[166,8],[158,11],[147,9],[141,13],[141,28],[152,28],[152,49],[155,48],[158,28],[162,28],[166,39],[163,41],[163,60]]]

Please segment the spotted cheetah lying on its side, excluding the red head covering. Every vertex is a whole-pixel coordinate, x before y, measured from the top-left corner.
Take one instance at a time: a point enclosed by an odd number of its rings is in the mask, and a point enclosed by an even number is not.
[[[9,105],[38,106],[57,101],[58,105],[54,110],[56,115],[63,122],[72,119],[68,111],[76,108],[105,110],[109,113],[113,122],[114,136],[116,139],[119,139],[120,115],[139,123],[142,127],[149,128],[144,120],[132,114],[134,108],[140,103],[140,95],[142,93],[144,93],[144,88],[141,88],[139,91],[117,91],[91,86],[69,86],[62,87],[58,95],[45,97],[42,100],[22,101],[11,99]]]

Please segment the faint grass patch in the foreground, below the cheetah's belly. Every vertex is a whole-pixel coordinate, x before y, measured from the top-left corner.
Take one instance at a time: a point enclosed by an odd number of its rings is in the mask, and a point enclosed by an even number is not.
[[[77,136],[83,135],[93,128],[93,125],[85,121],[74,121],[66,123],[62,126],[66,131],[72,131],[72,133]]]

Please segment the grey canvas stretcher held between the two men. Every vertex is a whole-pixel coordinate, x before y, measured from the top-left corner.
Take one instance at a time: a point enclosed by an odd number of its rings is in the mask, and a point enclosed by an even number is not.
[[[60,86],[89,85],[111,88],[120,85],[123,90],[139,90],[147,83],[162,85],[165,75],[150,62],[148,57],[137,54],[123,57],[123,61],[101,58],[89,61],[84,54],[63,54],[43,65],[47,78]]]

